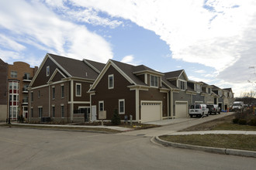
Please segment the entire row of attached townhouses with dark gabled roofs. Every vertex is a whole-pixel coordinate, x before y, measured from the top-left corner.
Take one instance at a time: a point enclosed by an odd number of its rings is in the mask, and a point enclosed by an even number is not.
[[[188,79],[185,70],[160,73],[112,59],[104,63],[47,53],[29,84],[29,121],[111,120],[115,110],[122,120],[137,122],[188,117],[195,103],[233,104],[231,88],[220,89]]]

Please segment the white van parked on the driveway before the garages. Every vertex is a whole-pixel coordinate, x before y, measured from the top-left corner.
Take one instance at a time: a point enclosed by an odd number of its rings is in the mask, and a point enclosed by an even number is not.
[[[189,109],[189,115],[190,117],[196,116],[196,117],[203,117],[203,116],[209,116],[209,109],[206,107],[206,104],[192,104]]]

